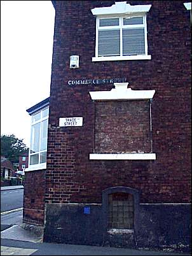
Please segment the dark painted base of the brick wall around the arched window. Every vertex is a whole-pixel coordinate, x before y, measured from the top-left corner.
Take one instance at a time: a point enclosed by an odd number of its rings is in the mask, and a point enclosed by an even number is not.
[[[44,242],[189,252],[190,204],[140,204],[137,230],[104,229],[102,204],[46,204]]]

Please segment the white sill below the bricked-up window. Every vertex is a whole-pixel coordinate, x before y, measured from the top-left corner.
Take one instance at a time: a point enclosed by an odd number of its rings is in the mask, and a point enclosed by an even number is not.
[[[90,160],[156,160],[156,153],[90,153]]]

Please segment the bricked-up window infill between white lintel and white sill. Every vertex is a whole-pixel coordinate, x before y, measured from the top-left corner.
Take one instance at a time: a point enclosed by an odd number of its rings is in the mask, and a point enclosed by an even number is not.
[[[95,153],[150,152],[149,101],[95,103]]]

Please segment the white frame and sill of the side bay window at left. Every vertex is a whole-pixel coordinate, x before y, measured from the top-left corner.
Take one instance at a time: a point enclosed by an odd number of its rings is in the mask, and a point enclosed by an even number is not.
[[[43,110],[46,110],[48,108],[48,115],[46,117],[42,117],[42,113],[43,113]],[[38,114],[38,113],[41,113],[41,118],[39,118],[39,120],[37,121],[33,121],[33,117],[34,115]],[[49,107],[48,106],[45,106],[45,108],[42,108],[41,110],[38,110],[34,113],[32,113],[31,115],[31,127],[32,125],[35,125],[35,124],[38,124],[38,123],[41,123],[45,120],[47,120],[49,118]],[[40,131],[39,131],[39,144],[41,143],[41,129],[42,129],[42,125],[40,125]],[[32,136],[32,134],[31,134]],[[31,153],[31,143],[30,143],[30,147],[29,147],[29,167],[27,169],[25,169],[25,171],[36,171],[36,170],[40,170],[40,169],[46,169],[46,162],[43,162],[40,164],[40,154],[43,153],[43,152],[47,152],[47,148],[45,150],[40,150],[40,145],[39,145],[39,151],[38,152],[35,152],[35,153]],[[30,164],[30,161],[31,161],[31,155],[36,155],[38,154],[38,164]]]

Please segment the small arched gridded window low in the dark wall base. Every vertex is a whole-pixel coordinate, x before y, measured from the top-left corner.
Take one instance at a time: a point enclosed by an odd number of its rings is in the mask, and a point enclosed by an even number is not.
[[[134,229],[134,197],[132,194],[109,194],[109,229]]]

